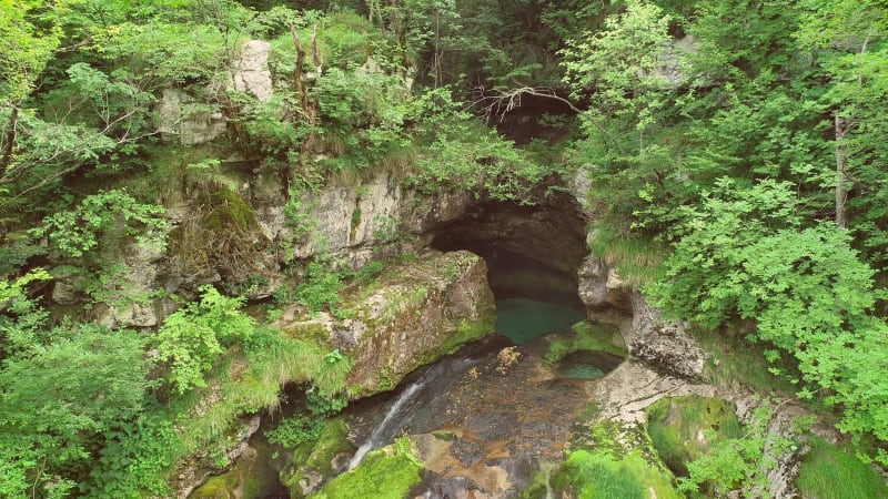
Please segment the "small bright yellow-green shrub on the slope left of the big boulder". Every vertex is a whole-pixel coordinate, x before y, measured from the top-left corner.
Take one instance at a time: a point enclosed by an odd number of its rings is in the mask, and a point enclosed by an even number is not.
[[[243,298],[222,296],[214,287],[201,287],[203,296],[167,317],[157,335],[159,359],[168,363],[169,383],[176,393],[205,386],[203,377],[238,340],[249,340],[255,325],[241,312]]]

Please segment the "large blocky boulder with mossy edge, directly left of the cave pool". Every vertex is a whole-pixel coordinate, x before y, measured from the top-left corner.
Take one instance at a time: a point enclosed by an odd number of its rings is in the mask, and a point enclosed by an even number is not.
[[[289,310],[280,326],[291,335],[322,328],[354,361],[352,398],[394,388],[417,367],[493,332],[496,316],[487,267],[468,252],[425,253],[386,269],[377,282],[346,292],[342,308],[347,318]]]

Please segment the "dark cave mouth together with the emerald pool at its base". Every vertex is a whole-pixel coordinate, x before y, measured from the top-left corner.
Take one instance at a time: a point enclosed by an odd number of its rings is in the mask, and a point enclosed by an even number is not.
[[[496,301],[496,330],[522,344],[569,330],[586,318],[577,294],[585,226],[576,200],[563,193],[533,206],[480,202],[437,227],[432,246],[467,249],[485,259]]]

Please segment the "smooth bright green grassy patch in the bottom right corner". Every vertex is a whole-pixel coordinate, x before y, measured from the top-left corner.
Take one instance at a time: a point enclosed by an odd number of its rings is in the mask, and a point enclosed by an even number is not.
[[[876,499],[888,497],[888,485],[852,452],[818,437],[809,437],[810,451],[801,461],[796,486],[803,497],[818,499]]]

